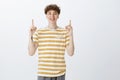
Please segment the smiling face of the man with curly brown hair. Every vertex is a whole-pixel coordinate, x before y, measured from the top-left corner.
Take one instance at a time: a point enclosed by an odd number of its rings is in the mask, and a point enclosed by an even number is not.
[[[57,19],[59,18],[59,14],[55,10],[49,10],[46,14],[46,18],[48,19],[49,23],[56,23]]]

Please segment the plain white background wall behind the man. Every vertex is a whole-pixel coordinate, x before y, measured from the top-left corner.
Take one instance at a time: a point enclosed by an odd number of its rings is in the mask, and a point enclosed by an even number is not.
[[[72,20],[75,55],[66,80],[120,80],[120,0],[0,0],[0,80],[37,80],[37,54],[28,55],[32,18],[45,27],[44,8],[61,7],[59,26]]]

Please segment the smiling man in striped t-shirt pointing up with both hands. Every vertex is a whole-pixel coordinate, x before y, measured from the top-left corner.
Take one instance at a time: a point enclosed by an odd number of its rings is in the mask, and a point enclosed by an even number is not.
[[[65,50],[70,56],[74,54],[71,21],[65,29],[57,25],[60,8],[56,4],[46,6],[45,14],[48,20],[48,26],[45,28],[37,29],[32,20],[29,55],[34,55],[38,49],[38,80],[65,80]]]

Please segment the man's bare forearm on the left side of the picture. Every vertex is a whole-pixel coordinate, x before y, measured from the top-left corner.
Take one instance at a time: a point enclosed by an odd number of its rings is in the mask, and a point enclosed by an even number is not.
[[[28,53],[30,56],[33,56],[35,54],[35,51],[36,51],[36,46],[33,43],[31,36],[29,36]]]

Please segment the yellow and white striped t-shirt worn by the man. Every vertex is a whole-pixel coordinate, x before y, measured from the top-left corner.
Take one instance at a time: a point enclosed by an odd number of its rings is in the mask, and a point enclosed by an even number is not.
[[[65,48],[69,44],[66,29],[38,29],[33,35],[38,44],[38,76],[57,77],[65,74]]]

